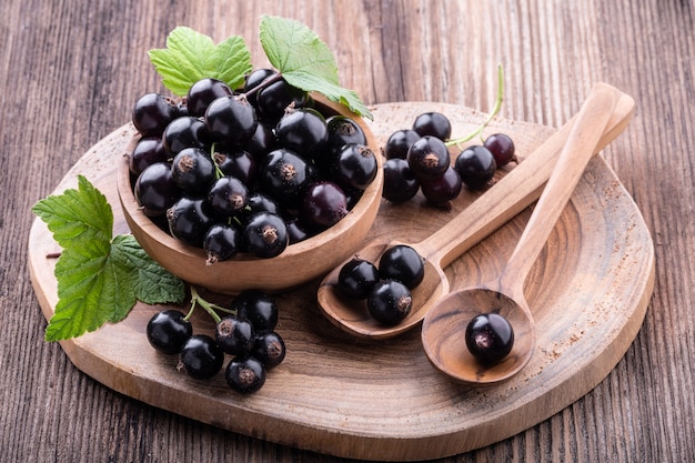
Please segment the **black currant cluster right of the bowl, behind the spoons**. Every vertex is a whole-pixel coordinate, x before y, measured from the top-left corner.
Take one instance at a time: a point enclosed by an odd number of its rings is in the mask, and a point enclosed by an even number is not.
[[[451,140],[451,122],[440,112],[422,113],[411,129],[393,132],[383,150],[383,197],[400,203],[422,191],[429,203],[446,208],[463,185],[485,189],[497,168],[515,160],[513,140],[495,133],[482,144],[461,149],[452,163],[450,147],[460,145],[470,137]]]

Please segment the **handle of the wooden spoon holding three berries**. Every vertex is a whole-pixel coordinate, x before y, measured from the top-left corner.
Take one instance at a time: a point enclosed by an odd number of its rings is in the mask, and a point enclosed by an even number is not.
[[[603,84],[611,88],[607,84]],[[614,89],[615,92],[618,90]],[[629,123],[635,101],[625,93],[613,110],[594,153],[611,143]],[[421,254],[442,269],[469,249],[492,234],[541,195],[551,177],[577,115],[567,121],[532,154],[518,163],[502,180],[477,198],[427,239],[416,244]]]

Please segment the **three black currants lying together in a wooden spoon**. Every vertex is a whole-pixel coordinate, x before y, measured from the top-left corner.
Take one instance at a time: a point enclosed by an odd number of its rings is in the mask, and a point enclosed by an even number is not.
[[[422,256],[413,248],[396,244],[379,264],[354,256],[338,275],[338,288],[348,298],[365,300],[371,316],[384,325],[401,323],[413,306],[411,290],[424,279]]]

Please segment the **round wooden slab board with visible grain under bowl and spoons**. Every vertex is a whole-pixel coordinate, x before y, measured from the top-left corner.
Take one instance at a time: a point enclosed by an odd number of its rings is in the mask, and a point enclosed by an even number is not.
[[[449,115],[454,134],[469,133],[485,117],[432,102],[387,103],[372,110],[371,127],[382,144],[424,111]],[[485,133],[496,131],[514,138],[522,158],[554,132],[503,119]],[[75,187],[77,175],[84,174],[113,208],[115,233],[128,232],[115,165],[131,135],[127,124],[101,140],[56,190]],[[420,193],[405,204],[382,202],[367,240],[389,233],[420,241],[474,200],[464,191],[451,211],[426,205]],[[452,290],[497,271],[530,213],[522,212],[447,268]],[[29,264],[47,319],[58,300],[51,254],[59,251],[37,219],[29,239]],[[591,391],[632,344],[653,285],[648,230],[614,172],[596,157],[526,282],[538,330],[536,351],[517,376],[500,385],[463,386],[437,373],[424,354],[417,328],[385,341],[357,340],[341,332],[316,305],[319,281],[276,295],[278,332],[288,354],[253,395],[234,393],[223,374],[211,381],[192,380],[177,371],[174,358],[155,353],[144,326],[159,306],[139,303],[123,322],[61,345],[78,369],[104,385],[201,422],[336,456],[426,460],[512,436]],[[204,313],[197,314],[193,323],[198,332],[212,329]]]

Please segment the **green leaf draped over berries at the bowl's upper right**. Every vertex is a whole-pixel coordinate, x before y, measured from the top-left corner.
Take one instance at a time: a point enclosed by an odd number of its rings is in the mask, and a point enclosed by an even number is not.
[[[263,16],[259,38],[271,64],[290,84],[323,93],[329,100],[372,119],[360,97],[340,85],[331,49],[306,26],[291,19]]]

